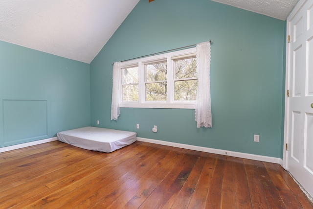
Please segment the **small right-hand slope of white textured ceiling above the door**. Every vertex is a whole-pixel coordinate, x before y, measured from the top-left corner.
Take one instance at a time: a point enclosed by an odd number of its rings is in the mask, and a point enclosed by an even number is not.
[[[286,20],[298,0],[213,0],[251,12]]]

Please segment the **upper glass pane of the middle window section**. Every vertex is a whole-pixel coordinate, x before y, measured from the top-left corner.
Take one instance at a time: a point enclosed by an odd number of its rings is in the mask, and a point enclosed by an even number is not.
[[[166,81],[167,77],[167,63],[155,63],[146,65],[146,81]]]

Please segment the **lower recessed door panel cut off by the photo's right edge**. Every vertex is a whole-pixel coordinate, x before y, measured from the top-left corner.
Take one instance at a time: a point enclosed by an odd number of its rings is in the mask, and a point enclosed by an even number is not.
[[[313,174],[313,114],[306,114],[305,141],[305,167]]]

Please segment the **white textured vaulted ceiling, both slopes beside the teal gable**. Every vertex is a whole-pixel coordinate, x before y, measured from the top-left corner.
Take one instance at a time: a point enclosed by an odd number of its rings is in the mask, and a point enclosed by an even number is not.
[[[286,20],[298,0],[214,1]],[[0,40],[90,63],[138,2],[1,0]]]

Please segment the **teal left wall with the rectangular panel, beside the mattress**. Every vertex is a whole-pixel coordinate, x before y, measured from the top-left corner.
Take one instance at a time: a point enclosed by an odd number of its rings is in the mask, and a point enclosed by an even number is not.
[[[89,64],[0,41],[0,147],[90,125]]]

